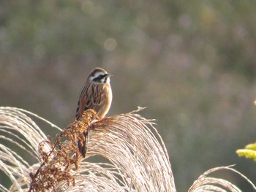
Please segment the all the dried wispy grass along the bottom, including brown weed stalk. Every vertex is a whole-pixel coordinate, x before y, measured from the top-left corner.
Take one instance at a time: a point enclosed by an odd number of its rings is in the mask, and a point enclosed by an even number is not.
[[[12,183],[10,187],[0,183],[0,191],[176,191],[165,145],[153,121],[137,112],[92,121],[95,113],[88,110],[61,130],[26,110],[0,107],[0,169]],[[30,116],[59,134],[55,139],[46,137]],[[89,131],[86,158],[77,147],[78,138],[85,139],[83,131]],[[94,155],[110,163],[86,161]],[[25,156],[36,163],[27,162]],[[189,191],[240,191],[227,180],[208,177],[219,169],[237,172],[230,166],[211,169]]]

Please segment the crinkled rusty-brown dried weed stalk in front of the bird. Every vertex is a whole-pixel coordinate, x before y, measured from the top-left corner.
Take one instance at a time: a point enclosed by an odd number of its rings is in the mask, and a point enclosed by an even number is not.
[[[45,140],[39,143],[38,153],[42,162],[37,171],[31,172],[31,183],[29,191],[56,191],[56,185],[62,181],[68,185],[75,185],[75,178],[72,177],[71,170],[78,169],[78,139],[85,140],[83,132],[87,132],[91,121],[96,118],[96,112],[87,110],[82,117],[75,120],[70,126],[61,131],[56,136],[56,142],[53,145],[51,140]],[[61,140],[64,142],[61,142]],[[50,145],[51,150],[44,150],[45,144]],[[75,155],[77,154],[77,155]]]

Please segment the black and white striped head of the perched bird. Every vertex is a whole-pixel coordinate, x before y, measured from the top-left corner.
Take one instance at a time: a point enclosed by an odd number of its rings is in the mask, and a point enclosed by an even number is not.
[[[110,83],[110,77],[112,74],[109,74],[102,68],[95,68],[89,74],[88,80],[91,82],[98,82],[98,83]]]

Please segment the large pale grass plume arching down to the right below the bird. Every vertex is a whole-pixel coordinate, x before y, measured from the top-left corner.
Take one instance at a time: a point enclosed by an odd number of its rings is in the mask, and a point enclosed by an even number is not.
[[[149,127],[154,129],[151,121],[134,112],[96,122],[89,132],[88,155],[108,158],[125,173],[123,182],[131,189],[176,191],[165,146]]]

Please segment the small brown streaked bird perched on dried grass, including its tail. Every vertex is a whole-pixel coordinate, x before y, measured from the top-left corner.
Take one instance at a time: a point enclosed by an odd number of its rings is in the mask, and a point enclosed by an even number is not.
[[[79,118],[82,117],[83,112],[89,109],[97,112],[98,120],[105,118],[105,115],[110,110],[112,102],[112,89],[110,86],[111,76],[113,75],[100,67],[96,67],[90,72],[87,77],[86,84],[80,92],[78,107],[75,114],[76,120],[79,120]],[[83,142],[83,146],[81,146],[80,141],[78,141],[78,150],[81,155],[83,155],[83,158],[85,158],[88,131],[84,132],[83,135],[86,139]]]

